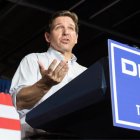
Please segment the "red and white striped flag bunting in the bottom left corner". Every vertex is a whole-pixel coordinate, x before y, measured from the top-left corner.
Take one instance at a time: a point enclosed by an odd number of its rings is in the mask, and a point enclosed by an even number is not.
[[[20,139],[20,119],[13,106],[11,95],[0,93],[0,140]]]

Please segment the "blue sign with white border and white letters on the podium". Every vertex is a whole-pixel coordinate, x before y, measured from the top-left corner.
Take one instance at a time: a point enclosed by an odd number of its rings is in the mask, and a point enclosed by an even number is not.
[[[140,50],[108,40],[114,126],[140,130]]]

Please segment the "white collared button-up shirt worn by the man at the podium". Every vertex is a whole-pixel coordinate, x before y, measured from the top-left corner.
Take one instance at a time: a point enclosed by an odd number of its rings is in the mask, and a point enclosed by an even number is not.
[[[48,69],[49,65],[52,63],[54,59],[56,59],[57,63],[59,63],[61,60],[64,59],[64,57],[60,52],[54,50],[51,47],[48,49],[47,52],[31,53],[22,59],[12,79],[12,84],[10,88],[10,93],[12,95],[13,103],[15,106],[16,106],[16,95],[18,94],[19,90],[23,87],[33,85],[34,83],[36,83],[38,80],[41,79],[38,61],[41,62],[46,69]],[[60,88],[62,88],[64,85],[69,83],[72,79],[74,79],[87,69],[86,67],[79,65],[76,62],[76,60],[77,58],[73,55],[72,59],[68,61],[69,70],[64,79],[62,80],[62,82],[53,86],[35,106],[46,100],[48,97],[50,97],[52,94],[54,94],[56,91],[58,91]],[[26,124],[25,122],[25,117],[27,112],[29,111],[30,110],[28,109],[18,110],[18,113],[21,118],[21,124],[23,125],[22,127],[24,127],[23,129],[27,131],[28,124]]]

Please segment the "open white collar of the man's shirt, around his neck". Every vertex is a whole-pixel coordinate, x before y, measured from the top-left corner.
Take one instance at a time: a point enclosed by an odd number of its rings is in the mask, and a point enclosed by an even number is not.
[[[47,52],[51,57],[53,57],[59,61],[64,60],[64,56],[52,47],[49,47]],[[77,57],[74,54],[72,54],[72,58],[69,61],[75,62],[75,61],[77,61]]]

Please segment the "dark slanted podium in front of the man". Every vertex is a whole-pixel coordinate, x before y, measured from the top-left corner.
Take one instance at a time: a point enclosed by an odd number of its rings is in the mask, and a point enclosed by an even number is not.
[[[114,127],[109,63],[104,57],[26,115],[33,128],[78,138],[138,138],[138,131]]]

